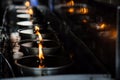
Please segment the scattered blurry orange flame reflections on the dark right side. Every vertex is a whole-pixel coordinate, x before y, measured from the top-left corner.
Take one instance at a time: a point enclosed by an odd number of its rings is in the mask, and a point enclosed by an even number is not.
[[[80,14],[87,14],[89,12],[89,9],[87,7],[80,7],[80,8],[77,8],[75,9],[74,6],[75,6],[75,2],[74,0],[70,0],[66,3],[66,6],[69,6],[70,8],[68,9],[68,12],[69,13],[80,13]],[[86,19],[83,19],[82,20],[84,23],[87,22]],[[96,26],[96,29],[97,30],[105,30],[106,28],[108,28],[108,25],[105,24],[105,23],[101,23],[101,24],[98,24]],[[116,39],[117,38],[117,31],[116,30],[111,30],[109,31],[109,37],[111,37],[112,39]]]

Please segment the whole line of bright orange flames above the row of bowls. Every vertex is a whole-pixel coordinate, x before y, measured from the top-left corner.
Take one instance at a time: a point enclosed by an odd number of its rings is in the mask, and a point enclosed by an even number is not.
[[[30,14],[30,16],[32,17],[32,15],[33,15],[33,9],[30,7],[31,5],[30,5],[30,1],[26,1],[25,3],[24,3],[24,5],[26,6],[26,8],[27,8],[27,11],[26,11],[26,13],[27,14]],[[43,51],[42,51],[42,48],[43,48],[43,46],[42,46],[42,41],[43,41],[43,38],[42,38],[42,35],[41,35],[41,33],[39,32],[40,31],[40,28],[38,27],[38,26],[35,26],[34,27],[34,30],[35,30],[35,34],[37,35],[37,40],[38,40],[38,57],[39,57],[39,59],[40,59],[40,65],[39,65],[39,68],[43,68],[44,67],[44,65],[43,65],[43,60],[44,60],[44,55],[43,55]]]

